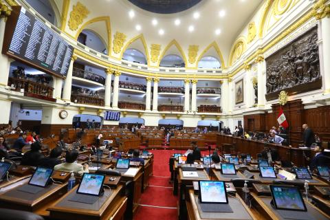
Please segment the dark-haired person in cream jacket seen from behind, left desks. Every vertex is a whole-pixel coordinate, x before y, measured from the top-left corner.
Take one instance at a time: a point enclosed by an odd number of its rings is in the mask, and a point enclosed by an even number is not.
[[[88,164],[84,166],[76,163],[76,159],[78,158],[78,151],[72,150],[67,151],[65,155],[65,162],[63,164],[58,164],[54,166],[54,170],[63,171],[63,172],[74,172],[74,175],[81,176],[83,173],[88,173]]]

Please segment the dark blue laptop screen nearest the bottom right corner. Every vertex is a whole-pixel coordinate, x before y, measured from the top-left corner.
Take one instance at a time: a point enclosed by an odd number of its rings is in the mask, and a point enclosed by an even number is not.
[[[306,211],[305,202],[295,186],[270,185],[274,206],[278,209]]]

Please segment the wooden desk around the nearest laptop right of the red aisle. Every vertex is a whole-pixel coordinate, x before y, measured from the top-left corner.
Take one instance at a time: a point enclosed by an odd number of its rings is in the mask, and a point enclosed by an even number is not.
[[[214,220],[214,219],[259,219],[256,217],[250,208],[245,205],[244,201],[236,195],[236,197],[228,197],[229,204],[235,203],[235,206],[231,206],[232,209],[236,208],[239,212],[232,213],[215,213],[215,212],[202,212],[197,203],[198,196],[194,194],[194,190],[189,190],[189,197],[186,199],[186,206],[188,210],[188,219],[190,220]],[[241,214],[242,217],[238,215]],[[224,215],[227,215],[224,217]],[[208,217],[206,217],[208,216]]]

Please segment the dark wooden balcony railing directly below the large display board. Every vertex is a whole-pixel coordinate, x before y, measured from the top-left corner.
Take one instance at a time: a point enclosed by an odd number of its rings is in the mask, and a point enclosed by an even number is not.
[[[40,98],[55,102],[53,98],[54,88],[41,83],[36,83],[31,80],[23,78],[8,78],[8,85],[12,87],[14,91],[24,91],[24,96],[30,96],[33,98]],[[21,90],[22,89],[22,90]]]

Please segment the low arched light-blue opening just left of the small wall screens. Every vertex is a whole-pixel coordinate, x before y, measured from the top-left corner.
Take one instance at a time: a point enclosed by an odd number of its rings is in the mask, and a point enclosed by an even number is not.
[[[74,115],[72,126],[74,129],[99,129],[102,117],[98,115],[78,114]]]

